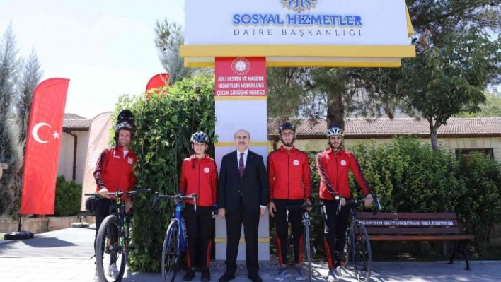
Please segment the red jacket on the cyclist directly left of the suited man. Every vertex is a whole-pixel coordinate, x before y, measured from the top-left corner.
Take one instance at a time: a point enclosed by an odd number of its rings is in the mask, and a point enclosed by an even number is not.
[[[217,168],[216,161],[205,154],[199,159],[195,155],[183,160],[179,192],[183,195],[197,194],[197,206],[216,204]],[[186,200],[193,204],[192,200]]]

